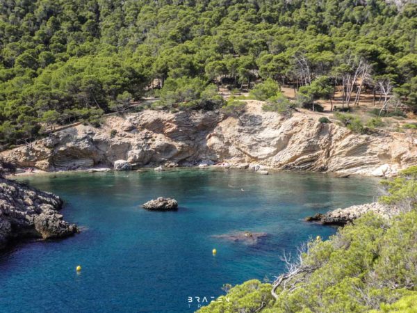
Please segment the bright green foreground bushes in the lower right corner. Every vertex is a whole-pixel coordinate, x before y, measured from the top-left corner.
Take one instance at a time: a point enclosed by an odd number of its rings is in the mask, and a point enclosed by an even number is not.
[[[368,214],[327,241],[306,243],[300,257],[285,259],[276,300],[271,284],[251,280],[199,312],[416,312],[417,166],[384,186],[380,201],[401,213]]]

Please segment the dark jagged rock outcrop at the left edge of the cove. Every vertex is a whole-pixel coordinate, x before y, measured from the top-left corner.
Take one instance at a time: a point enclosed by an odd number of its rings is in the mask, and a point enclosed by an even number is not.
[[[23,238],[61,238],[77,232],[58,213],[62,200],[52,193],[0,177],[0,249]]]

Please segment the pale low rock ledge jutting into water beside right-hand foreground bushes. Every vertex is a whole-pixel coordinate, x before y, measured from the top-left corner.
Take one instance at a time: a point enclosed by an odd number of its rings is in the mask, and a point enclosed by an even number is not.
[[[352,205],[345,209],[336,209],[334,211],[328,211],[325,214],[316,214],[306,218],[308,222],[318,222],[323,225],[346,225],[353,220],[363,216],[368,212],[374,212],[379,216],[385,218],[391,218],[400,213],[397,207],[391,207],[379,202],[372,202],[360,205]]]

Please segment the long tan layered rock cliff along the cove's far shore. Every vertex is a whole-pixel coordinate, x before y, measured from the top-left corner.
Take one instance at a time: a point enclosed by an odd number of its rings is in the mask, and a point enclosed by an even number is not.
[[[42,170],[113,166],[124,159],[133,167],[213,161],[391,176],[417,164],[416,143],[407,134],[354,134],[335,123],[322,125],[306,113],[284,119],[250,101],[239,119],[219,112],[147,110],[109,117],[98,129],[79,125],[58,131],[1,156]]]

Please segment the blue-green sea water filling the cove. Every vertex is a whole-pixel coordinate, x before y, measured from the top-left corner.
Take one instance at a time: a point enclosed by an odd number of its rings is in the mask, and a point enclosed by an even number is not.
[[[378,184],[311,173],[184,169],[19,179],[60,195],[65,219],[83,231],[0,255],[0,312],[193,312],[194,297],[219,296],[224,283],[273,280],[284,271],[284,250],[336,231],[305,223],[305,216],[372,201]],[[139,207],[158,196],[176,198],[179,210]],[[213,238],[236,230],[268,236],[254,246]]]

